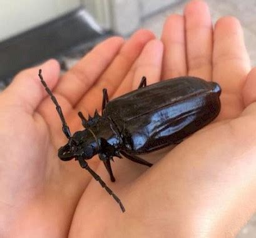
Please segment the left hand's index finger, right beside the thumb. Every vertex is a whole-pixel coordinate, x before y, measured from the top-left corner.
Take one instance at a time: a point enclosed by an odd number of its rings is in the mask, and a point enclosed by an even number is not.
[[[68,99],[72,106],[76,105],[113,61],[122,45],[121,37],[101,42],[61,77],[55,92]]]

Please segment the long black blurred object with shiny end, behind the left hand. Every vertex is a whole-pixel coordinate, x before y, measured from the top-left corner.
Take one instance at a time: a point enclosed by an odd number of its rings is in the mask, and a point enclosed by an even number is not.
[[[112,34],[95,26],[88,12],[79,8],[0,42],[0,84],[2,87],[9,84],[21,69],[51,57],[63,64],[63,56],[81,56],[96,42]]]

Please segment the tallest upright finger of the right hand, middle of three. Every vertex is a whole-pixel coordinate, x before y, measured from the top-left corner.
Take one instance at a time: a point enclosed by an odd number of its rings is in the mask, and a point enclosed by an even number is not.
[[[184,11],[188,75],[212,80],[212,21],[203,1],[192,1]]]

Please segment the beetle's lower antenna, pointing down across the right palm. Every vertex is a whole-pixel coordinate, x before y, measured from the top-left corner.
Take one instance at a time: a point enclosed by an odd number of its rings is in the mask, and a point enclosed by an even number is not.
[[[84,161],[84,159],[82,157],[78,157],[78,161],[79,161],[79,164],[80,166],[83,168],[83,169],[86,169],[88,172],[90,172],[91,176],[94,177],[94,179],[98,182],[100,182],[100,185],[101,187],[103,187],[104,189],[106,189],[106,191],[108,192],[108,194],[110,194],[114,199],[115,201],[119,204],[120,208],[121,208],[121,211],[122,212],[125,212],[125,207],[123,206],[121,200],[119,199],[118,196],[116,196],[116,194],[114,194],[114,192],[108,187],[106,186],[105,182],[101,179],[100,176],[98,176],[98,174],[96,174],[95,171],[93,171],[87,164],[86,161]]]

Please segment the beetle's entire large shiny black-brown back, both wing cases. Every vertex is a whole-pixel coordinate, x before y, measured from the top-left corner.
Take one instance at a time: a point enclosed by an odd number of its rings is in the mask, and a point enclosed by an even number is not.
[[[123,104],[111,110],[111,117],[123,128],[126,151],[143,154],[176,144],[213,121],[220,111],[219,96],[214,82],[180,77],[119,97],[108,109]]]

